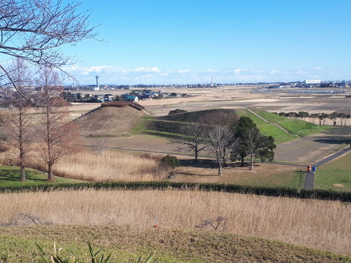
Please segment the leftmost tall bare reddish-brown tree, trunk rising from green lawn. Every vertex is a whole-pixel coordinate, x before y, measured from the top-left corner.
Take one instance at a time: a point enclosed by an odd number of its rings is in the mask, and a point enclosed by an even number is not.
[[[30,84],[31,75],[25,61],[16,58],[13,65],[9,67],[8,72],[11,74],[13,86],[20,90],[20,93],[27,95],[27,87]],[[29,140],[32,130],[32,118],[29,115],[31,104],[18,93],[14,93],[12,100],[9,100],[6,104],[10,107],[11,112],[9,118],[6,119],[5,126],[8,131],[8,142],[18,149],[20,181],[25,181],[25,162],[31,146]]]

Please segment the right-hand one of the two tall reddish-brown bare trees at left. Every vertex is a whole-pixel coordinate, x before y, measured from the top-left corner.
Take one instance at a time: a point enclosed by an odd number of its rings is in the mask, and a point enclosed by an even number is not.
[[[67,123],[67,102],[61,97],[62,87],[58,85],[58,74],[53,69],[43,69],[39,79],[41,89],[37,104],[41,112],[38,135],[42,141],[41,156],[47,163],[48,180],[54,180],[53,165],[65,156],[79,150],[77,126]]]

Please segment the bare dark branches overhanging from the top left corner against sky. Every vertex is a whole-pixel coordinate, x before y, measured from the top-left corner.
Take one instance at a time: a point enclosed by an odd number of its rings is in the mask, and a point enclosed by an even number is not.
[[[4,58],[22,58],[39,67],[61,69],[76,62],[60,46],[94,39],[95,27],[88,23],[91,10],[79,11],[80,4],[64,5],[62,0],[1,0],[0,53]],[[0,63],[1,79],[11,76]],[[14,88],[16,88],[14,86]],[[17,90],[20,93],[20,90]]]

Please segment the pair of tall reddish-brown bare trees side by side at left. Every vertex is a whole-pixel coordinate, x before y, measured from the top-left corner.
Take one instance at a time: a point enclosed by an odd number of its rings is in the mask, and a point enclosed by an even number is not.
[[[20,166],[21,181],[26,180],[25,167],[34,151],[47,165],[48,180],[54,180],[53,165],[79,150],[78,129],[74,123],[67,122],[69,111],[61,96],[58,74],[46,67],[33,80],[20,58],[8,72],[20,93],[13,91],[4,101],[9,114],[1,123],[2,143],[16,149],[16,156],[8,157]],[[38,88],[35,92],[26,88],[33,81]]]

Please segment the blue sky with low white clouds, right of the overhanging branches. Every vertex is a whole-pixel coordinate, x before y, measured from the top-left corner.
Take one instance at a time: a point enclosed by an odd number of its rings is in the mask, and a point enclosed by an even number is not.
[[[84,0],[98,39],[65,46],[82,84],[349,80],[350,0]]]

